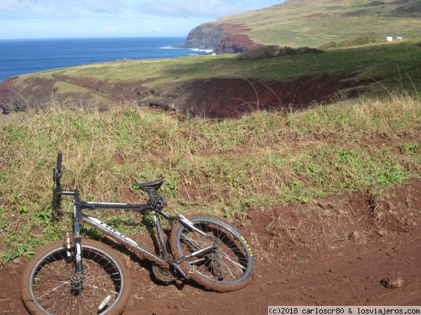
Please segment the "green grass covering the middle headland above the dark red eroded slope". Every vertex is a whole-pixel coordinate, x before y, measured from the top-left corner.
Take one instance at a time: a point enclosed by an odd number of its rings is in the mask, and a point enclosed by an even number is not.
[[[418,69],[421,68],[421,48],[417,46],[418,42],[419,40],[374,43],[330,49],[316,54],[259,59],[218,55],[173,60],[124,60],[21,76],[18,83],[20,86],[25,86],[26,82],[33,78],[48,79],[54,75],[59,78],[62,76],[62,82],[66,82],[56,83],[59,88],[57,93],[74,91],[76,87],[69,87],[69,80],[74,81],[73,85],[76,86],[80,79],[86,78],[92,79],[97,84],[100,81],[111,84],[126,81],[136,82],[135,84],[146,88],[161,87],[168,91],[180,83],[195,79],[243,77],[251,82],[290,82],[302,76],[317,78],[323,75],[343,74],[366,80],[370,90],[375,92],[384,92],[384,88],[389,91],[420,91],[421,72]]]

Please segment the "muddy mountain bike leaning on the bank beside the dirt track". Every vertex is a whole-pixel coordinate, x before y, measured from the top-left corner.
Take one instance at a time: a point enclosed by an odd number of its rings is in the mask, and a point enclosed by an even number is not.
[[[152,262],[152,272],[161,281],[191,279],[218,292],[239,290],[253,274],[255,257],[250,244],[234,227],[216,217],[168,215],[157,191],[163,180],[133,185],[147,193],[145,204],[82,201],[78,189],[62,189],[62,152],[53,168],[52,215],[60,224],[63,196],[72,196],[72,233],[62,241],[41,248],[22,274],[22,301],[33,315],[121,314],[131,294],[131,275],[121,254],[100,241],[81,235],[88,224],[110,236],[142,258]],[[159,253],[149,250],[113,227],[83,212],[83,209],[122,209],[152,214]],[[161,220],[171,227],[169,237]],[[168,244],[168,246],[167,246]],[[158,250],[157,250],[158,251]]]

